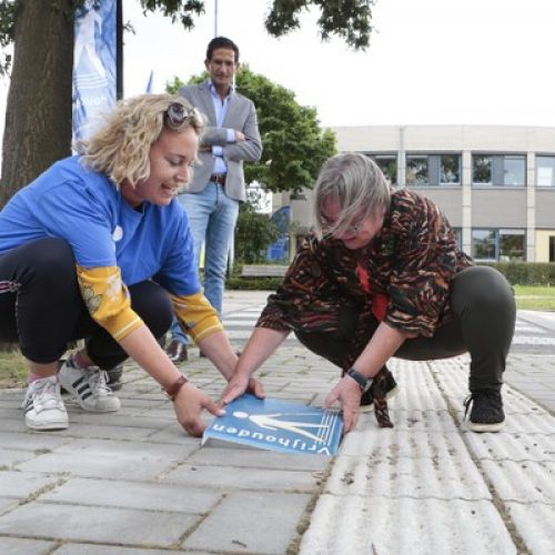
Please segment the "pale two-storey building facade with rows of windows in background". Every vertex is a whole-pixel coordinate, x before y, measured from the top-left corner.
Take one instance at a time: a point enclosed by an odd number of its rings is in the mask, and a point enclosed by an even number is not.
[[[476,260],[555,262],[555,128],[380,125],[333,129],[340,152],[361,152],[394,188],[436,202]],[[290,200],[299,232],[311,192]],[[278,199],[276,199],[278,200]],[[280,204],[280,202],[278,202]]]

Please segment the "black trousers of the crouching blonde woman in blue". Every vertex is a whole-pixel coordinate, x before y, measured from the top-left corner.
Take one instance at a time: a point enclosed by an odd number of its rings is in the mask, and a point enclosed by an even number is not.
[[[129,287],[131,306],[155,337],[170,327],[172,305],[152,281]],[[69,244],[43,239],[0,256],[0,341],[19,343],[32,362],[57,361],[71,341],[84,339],[90,359],[112,369],[128,354],[89,314]]]

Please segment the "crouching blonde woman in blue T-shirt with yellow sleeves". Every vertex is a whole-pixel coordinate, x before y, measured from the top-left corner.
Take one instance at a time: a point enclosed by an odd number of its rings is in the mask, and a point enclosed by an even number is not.
[[[175,200],[203,128],[178,95],[122,101],[78,145],[80,155],[54,163],[0,212],[0,340],[18,342],[29,360],[28,427],[68,427],[60,384],[85,411],[118,411],[101,369],[128,355],[162,386],[191,434],[202,433],[202,408],[219,413],[157,341],[175,313],[224,376],[238,360],[201,292]],[[78,339],[84,349],[57,374]]]

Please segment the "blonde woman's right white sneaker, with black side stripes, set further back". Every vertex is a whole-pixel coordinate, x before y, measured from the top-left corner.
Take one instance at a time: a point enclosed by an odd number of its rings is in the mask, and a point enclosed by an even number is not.
[[[105,384],[105,371],[97,366],[81,369],[69,357],[62,364],[58,377],[61,386],[75,397],[84,411],[110,413],[120,410],[120,400]]]

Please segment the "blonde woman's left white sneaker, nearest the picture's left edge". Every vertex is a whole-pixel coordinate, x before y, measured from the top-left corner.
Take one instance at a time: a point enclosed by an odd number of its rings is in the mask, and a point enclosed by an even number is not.
[[[69,426],[57,376],[31,382],[21,407],[26,411],[27,427],[31,430],[65,430]]]

